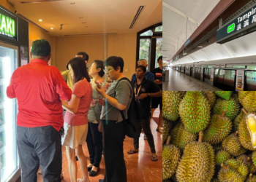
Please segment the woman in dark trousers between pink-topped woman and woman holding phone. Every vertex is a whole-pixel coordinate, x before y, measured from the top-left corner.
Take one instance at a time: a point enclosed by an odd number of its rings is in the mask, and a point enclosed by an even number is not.
[[[91,79],[91,87],[93,92],[91,106],[88,114],[89,128],[86,138],[90,155],[90,164],[87,165],[87,169],[89,170],[90,176],[94,176],[99,173],[99,163],[102,159],[102,132],[99,132],[98,130],[102,105],[98,103],[100,95],[96,90],[97,84],[95,82],[104,87],[105,91],[108,90],[110,84],[108,84],[108,82],[102,78],[105,74],[103,70],[104,62],[102,60],[94,60],[94,62],[91,64],[91,67],[89,68],[89,74],[93,78]]]

